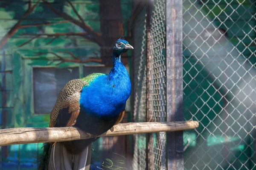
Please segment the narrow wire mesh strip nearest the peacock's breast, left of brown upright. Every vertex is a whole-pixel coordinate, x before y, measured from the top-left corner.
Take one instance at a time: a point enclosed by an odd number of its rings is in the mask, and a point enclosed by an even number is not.
[[[146,122],[146,8],[134,21],[134,121]],[[137,134],[134,144],[133,169],[145,170],[147,164],[146,134]]]

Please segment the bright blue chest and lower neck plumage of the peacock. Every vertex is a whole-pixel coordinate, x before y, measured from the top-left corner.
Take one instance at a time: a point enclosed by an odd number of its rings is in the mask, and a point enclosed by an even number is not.
[[[99,75],[81,91],[81,112],[99,117],[113,117],[124,108],[131,94],[131,81],[126,68],[113,67],[109,75]]]

